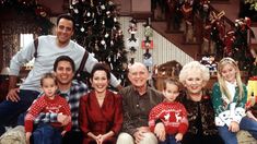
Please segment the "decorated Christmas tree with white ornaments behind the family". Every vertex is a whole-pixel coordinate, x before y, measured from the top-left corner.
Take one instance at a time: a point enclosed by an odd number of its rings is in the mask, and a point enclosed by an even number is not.
[[[107,63],[125,86],[128,60],[117,5],[109,0],[72,0],[70,14],[75,19],[74,40]]]

